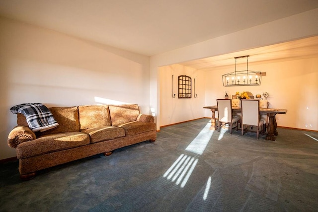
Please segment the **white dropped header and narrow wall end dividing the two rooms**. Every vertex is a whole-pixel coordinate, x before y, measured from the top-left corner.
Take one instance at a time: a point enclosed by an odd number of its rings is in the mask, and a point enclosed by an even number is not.
[[[317,17],[318,9],[313,9],[151,57],[150,104],[156,116],[160,117],[161,105],[158,67],[315,36],[318,35]],[[222,92],[225,90],[222,87],[219,89]],[[217,95],[209,92],[206,96],[211,96],[211,99]],[[159,126],[160,118],[157,121],[158,130]]]

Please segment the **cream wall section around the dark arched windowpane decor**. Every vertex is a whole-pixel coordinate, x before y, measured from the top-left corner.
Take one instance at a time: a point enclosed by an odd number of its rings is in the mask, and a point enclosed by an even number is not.
[[[172,98],[172,75],[173,93]],[[178,76],[187,75],[192,81],[192,98],[178,98]],[[180,65],[159,68],[160,126],[204,117],[204,72]],[[194,84],[195,81],[195,84]],[[195,85],[195,87],[194,87]],[[196,98],[194,96],[194,91]]]

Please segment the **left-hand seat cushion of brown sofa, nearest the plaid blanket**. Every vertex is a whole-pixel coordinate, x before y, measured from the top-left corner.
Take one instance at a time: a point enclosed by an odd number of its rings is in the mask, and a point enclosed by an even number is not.
[[[89,144],[89,136],[85,133],[58,133],[20,143],[16,147],[16,154],[17,158],[26,158],[87,144]]]

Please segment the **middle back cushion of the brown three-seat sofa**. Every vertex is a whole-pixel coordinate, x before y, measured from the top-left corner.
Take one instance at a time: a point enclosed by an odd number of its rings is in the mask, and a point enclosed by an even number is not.
[[[111,126],[108,105],[85,105],[79,106],[79,128]]]

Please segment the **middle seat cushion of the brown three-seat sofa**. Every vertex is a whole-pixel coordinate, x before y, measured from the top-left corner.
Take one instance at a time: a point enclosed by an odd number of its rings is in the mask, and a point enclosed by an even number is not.
[[[90,136],[91,143],[117,139],[125,136],[125,130],[123,128],[114,126],[95,127],[87,130],[81,130],[81,132]]]

